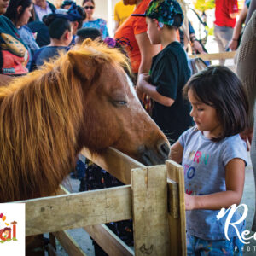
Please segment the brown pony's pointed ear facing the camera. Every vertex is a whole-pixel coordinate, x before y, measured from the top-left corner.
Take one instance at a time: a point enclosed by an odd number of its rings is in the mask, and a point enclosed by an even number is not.
[[[81,78],[89,81],[95,77],[96,68],[98,67],[95,59],[73,51],[69,51],[67,55],[73,66],[74,73],[78,73]]]

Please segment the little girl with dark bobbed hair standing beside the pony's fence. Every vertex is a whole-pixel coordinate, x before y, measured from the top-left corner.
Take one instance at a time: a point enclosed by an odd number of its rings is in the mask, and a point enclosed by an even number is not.
[[[239,133],[247,127],[247,96],[241,81],[227,67],[207,67],[184,87],[195,127],[185,131],[171,149],[182,162],[188,255],[241,255],[241,241],[229,226],[228,241],[219,210],[241,201],[247,149]],[[236,212],[231,223],[240,219]],[[241,234],[244,222],[236,227]]]

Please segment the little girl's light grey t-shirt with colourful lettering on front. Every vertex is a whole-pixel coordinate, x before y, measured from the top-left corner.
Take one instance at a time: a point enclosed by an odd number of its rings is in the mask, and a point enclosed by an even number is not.
[[[239,135],[225,137],[219,143],[213,143],[195,127],[185,131],[179,137],[183,146],[183,168],[185,192],[189,195],[209,195],[226,191],[225,166],[234,158],[244,160],[247,164],[247,149]],[[186,211],[187,232],[205,240],[226,239],[224,224],[228,214],[219,220],[219,210]],[[241,218],[236,211],[231,222]],[[240,231],[244,223],[236,225]],[[229,237],[237,236],[236,230],[230,226]]]

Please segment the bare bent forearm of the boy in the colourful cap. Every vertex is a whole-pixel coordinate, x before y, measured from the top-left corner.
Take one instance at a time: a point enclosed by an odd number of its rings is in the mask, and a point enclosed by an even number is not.
[[[160,104],[166,107],[171,107],[172,104],[174,103],[174,100],[169,97],[162,96],[156,90],[156,87],[154,85],[148,83],[148,79],[149,79],[148,73],[140,73],[137,79],[137,90],[147,94],[155,102],[159,102]]]

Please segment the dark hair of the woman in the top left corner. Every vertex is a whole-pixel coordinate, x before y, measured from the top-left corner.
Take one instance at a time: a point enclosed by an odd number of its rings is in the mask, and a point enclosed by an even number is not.
[[[30,7],[31,5],[32,5],[32,0],[10,0],[9,6],[4,15],[8,17],[9,20],[12,20],[16,26],[18,20],[20,20],[20,17],[24,14],[25,9],[27,7]],[[22,7],[20,14],[18,14],[18,11],[17,11],[19,6]]]

